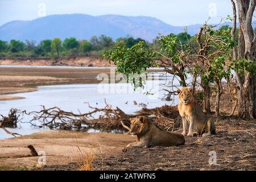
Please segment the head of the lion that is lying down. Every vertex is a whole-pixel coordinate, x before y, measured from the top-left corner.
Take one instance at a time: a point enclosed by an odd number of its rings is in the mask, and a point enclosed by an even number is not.
[[[131,118],[131,127],[130,133],[131,135],[139,135],[147,128],[147,118],[146,117],[137,117]]]

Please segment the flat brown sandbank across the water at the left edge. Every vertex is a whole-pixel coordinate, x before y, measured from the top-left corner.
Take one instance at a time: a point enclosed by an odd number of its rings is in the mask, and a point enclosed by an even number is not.
[[[0,101],[22,97],[9,94],[34,92],[36,86],[57,84],[94,84],[97,75],[110,74],[109,68],[0,68]]]

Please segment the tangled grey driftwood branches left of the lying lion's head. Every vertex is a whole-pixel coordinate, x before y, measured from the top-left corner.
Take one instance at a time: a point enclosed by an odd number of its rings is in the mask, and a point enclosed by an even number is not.
[[[40,111],[32,111],[30,113],[23,111],[23,113],[33,116],[33,119],[30,121],[33,126],[48,126],[51,129],[78,129],[84,131],[90,128],[102,129],[104,131],[122,129],[121,121],[127,123],[130,118],[136,116],[125,114],[118,107],[113,109],[113,107],[110,104],[107,104],[106,101],[105,104],[106,106],[101,109],[92,107],[88,104],[91,111],[79,114],[61,110],[59,107],[51,107],[47,109],[44,106],[42,106],[43,109]],[[93,114],[96,113],[100,114],[97,119],[93,117]],[[41,124],[35,125],[35,121],[39,121]]]

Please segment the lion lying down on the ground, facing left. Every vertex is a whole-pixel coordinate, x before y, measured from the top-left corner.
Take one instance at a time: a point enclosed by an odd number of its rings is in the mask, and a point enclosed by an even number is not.
[[[150,118],[139,116],[131,118],[130,121],[130,134],[137,135],[137,142],[130,143],[126,147],[168,147],[185,143],[183,135],[160,129]]]

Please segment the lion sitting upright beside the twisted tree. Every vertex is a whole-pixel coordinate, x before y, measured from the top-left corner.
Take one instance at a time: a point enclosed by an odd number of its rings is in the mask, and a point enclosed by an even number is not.
[[[177,91],[179,98],[179,113],[183,123],[183,135],[193,137],[196,130],[196,135],[215,134],[216,129],[212,117],[208,117],[203,110],[196,105],[192,95],[192,88],[183,87]],[[190,123],[188,129],[188,122]]]

